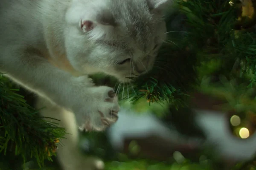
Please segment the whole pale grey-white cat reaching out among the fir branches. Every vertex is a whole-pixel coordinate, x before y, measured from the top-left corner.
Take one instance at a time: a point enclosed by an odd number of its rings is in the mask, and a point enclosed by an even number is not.
[[[47,105],[42,114],[72,134],[58,150],[64,170],[93,168],[77,150],[77,125],[104,130],[118,118],[113,89],[94,86],[87,75],[105,72],[125,82],[151,69],[170,1],[0,1],[0,71],[38,94],[37,107]]]

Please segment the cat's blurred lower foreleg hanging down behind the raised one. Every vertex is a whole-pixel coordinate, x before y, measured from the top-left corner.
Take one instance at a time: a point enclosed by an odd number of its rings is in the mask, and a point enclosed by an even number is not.
[[[43,108],[46,107],[46,108]],[[63,170],[102,170],[104,163],[96,158],[85,158],[79,151],[79,134],[76,125],[75,115],[43,98],[39,98],[36,108],[41,109],[43,117],[52,117],[49,121],[58,123],[59,127],[66,128],[65,139],[60,140],[57,150],[57,157]]]

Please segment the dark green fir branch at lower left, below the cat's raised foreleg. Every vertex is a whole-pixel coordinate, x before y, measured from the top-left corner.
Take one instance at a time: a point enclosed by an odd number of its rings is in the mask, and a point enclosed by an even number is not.
[[[14,152],[24,162],[35,158],[44,165],[44,159],[55,154],[55,139],[62,138],[65,129],[41,119],[17,91],[0,76],[0,153]]]

